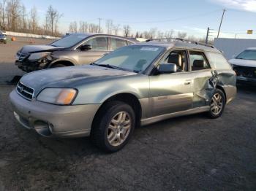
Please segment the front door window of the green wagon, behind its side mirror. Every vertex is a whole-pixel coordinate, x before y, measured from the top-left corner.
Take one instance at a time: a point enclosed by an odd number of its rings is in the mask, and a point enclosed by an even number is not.
[[[173,50],[164,58],[164,63],[175,63],[177,72],[188,71],[187,53],[185,50]]]

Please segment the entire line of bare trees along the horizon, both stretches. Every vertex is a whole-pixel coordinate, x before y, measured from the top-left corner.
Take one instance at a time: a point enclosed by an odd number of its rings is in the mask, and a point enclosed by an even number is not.
[[[39,22],[37,7],[27,10],[20,0],[0,0],[0,30],[22,33],[40,34],[45,36],[62,36],[58,30],[60,18],[63,16],[51,5],[45,12],[45,16]],[[104,25],[103,25],[104,23]],[[131,26],[115,24],[108,19],[102,22],[102,26],[86,21],[73,21],[69,23],[69,33],[106,33],[126,37],[155,39],[155,38],[181,38],[192,41],[204,42],[205,39],[188,36],[186,32],[167,30],[159,31],[151,28],[147,31],[134,31]]]

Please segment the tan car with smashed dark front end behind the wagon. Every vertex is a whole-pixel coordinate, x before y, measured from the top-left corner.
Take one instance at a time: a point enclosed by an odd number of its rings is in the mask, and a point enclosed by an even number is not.
[[[135,40],[107,34],[69,34],[48,45],[26,45],[17,52],[15,64],[23,71],[92,63]]]

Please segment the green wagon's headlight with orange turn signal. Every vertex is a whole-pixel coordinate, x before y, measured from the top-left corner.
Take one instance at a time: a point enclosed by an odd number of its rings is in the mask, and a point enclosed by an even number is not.
[[[69,105],[74,101],[78,91],[72,88],[48,87],[37,96],[38,101],[49,104]]]

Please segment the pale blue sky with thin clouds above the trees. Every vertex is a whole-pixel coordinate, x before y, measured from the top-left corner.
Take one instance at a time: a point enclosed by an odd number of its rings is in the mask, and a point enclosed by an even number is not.
[[[256,38],[256,0],[21,0],[27,9],[37,7],[39,19],[43,20],[51,4],[60,13],[59,28],[68,32],[71,21],[99,23],[97,18],[111,19],[114,24],[129,24],[132,32],[157,28],[159,31],[184,31],[188,35],[206,36],[206,28],[214,29],[216,36],[222,9],[227,9],[220,37]],[[246,34],[246,30],[254,34]]]

